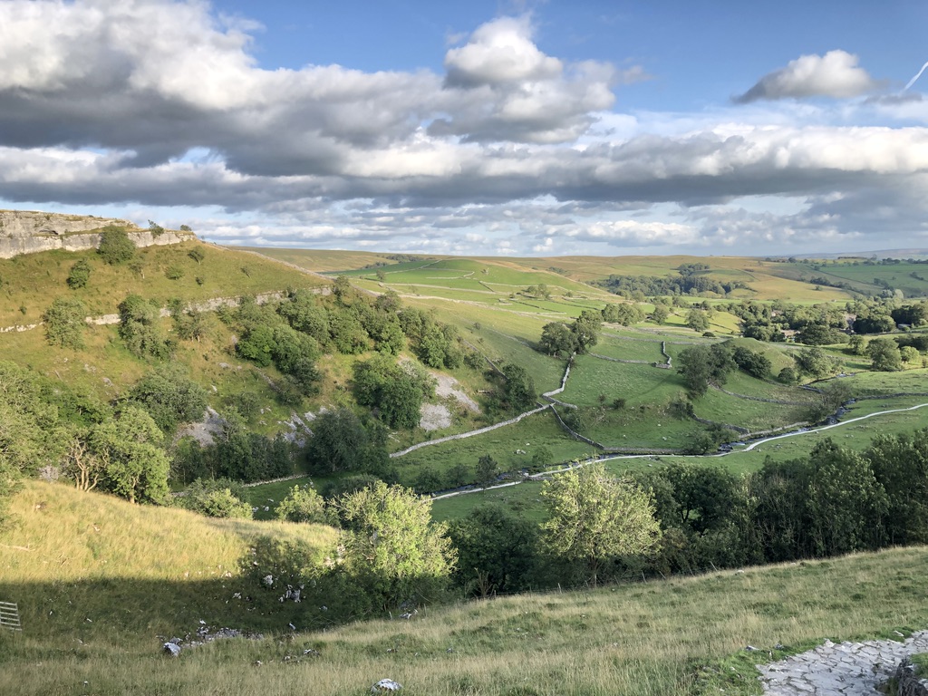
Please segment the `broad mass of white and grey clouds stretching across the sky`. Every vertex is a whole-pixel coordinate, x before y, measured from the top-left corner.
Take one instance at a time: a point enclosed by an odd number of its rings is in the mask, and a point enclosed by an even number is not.
[[[201,2],[0,3],[0,196],[182,207],[218,241],[436,253],[746,252],[925,234],[928,131],[914,97],[858,107],[909,109],[898,127],[798,110],[747,121],[738,113],[755,107],[741,106],[698,121],[637,115],[617,135],[606,125],[645,68],[549,56],[529,17],[477,27],[447,50],[444,73],[266,70],[252,29]],[[835,50],[738,101],[876,85]],[[675,121],[695,125],[657,125]],[[747,199],[799,210],[755,213]]]

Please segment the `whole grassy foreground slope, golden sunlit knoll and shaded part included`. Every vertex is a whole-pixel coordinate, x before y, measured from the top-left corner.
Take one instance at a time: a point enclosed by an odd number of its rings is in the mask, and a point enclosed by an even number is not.
[[[292,633],[290,602],[233,599],[238,561],[253,535],[318,547],[326,528],[207,521],[38,483],[16,510],[0,597],[19,602],[24,630],[0,632],[4,693],[359,696],[383,677],[430,696],[755,693],[751,664],[777,644],[928,626],[928,548],[909,548]],[[161,656],[200,620],[264,638]],[[745,657],[749,644],[764,652]]]

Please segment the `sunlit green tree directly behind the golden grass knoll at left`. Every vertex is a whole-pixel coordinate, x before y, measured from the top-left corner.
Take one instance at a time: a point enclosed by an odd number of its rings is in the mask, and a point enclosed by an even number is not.
[[[89,441],[104,462],[101,488],[131,503],[165,502],[171,462],[161,449],[161,430],[144,410],[126,406],[118,418],[97,425]]]

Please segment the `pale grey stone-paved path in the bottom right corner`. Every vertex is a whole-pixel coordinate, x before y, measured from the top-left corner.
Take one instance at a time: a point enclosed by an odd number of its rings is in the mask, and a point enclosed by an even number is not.
[[[902,642],[832,643],[773,664],[760,664],[764,693],[771,696],[872,696],[907,655],[928,652],[928,631]]]

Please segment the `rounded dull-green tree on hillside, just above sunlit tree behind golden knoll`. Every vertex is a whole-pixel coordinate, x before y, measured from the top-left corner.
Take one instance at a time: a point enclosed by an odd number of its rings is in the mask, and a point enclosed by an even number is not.
[[[169,363],[146,374],[129,391],[129,401],[148,411],[163,432],[179,423],[200,420],[206,410],[206,391],[189,379],[187,367]]]

